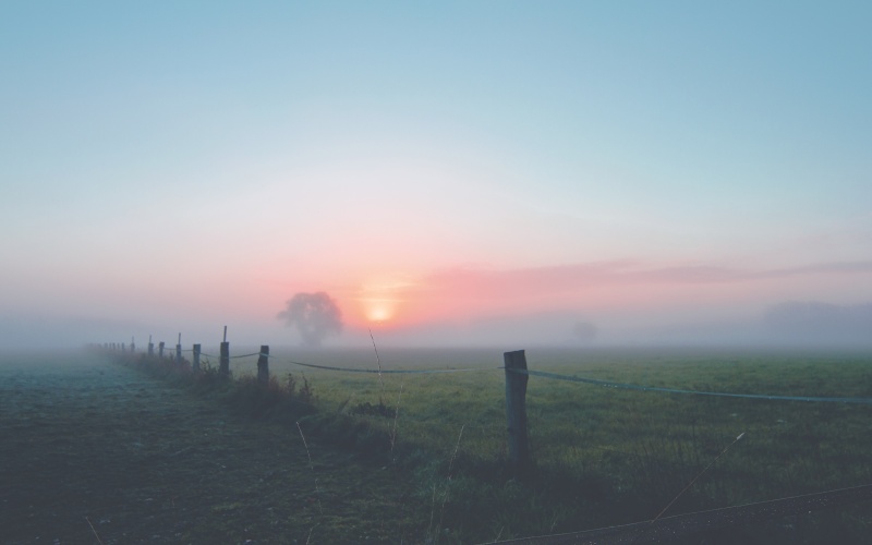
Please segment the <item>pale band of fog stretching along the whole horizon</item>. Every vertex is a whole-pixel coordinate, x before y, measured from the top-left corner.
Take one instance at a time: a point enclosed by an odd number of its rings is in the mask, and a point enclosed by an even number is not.
[[[293,308],[289,307],[289,311]],[[296,326],[284,311],[276,316],[239,323],[179,319],[131,320],[85,316],[13,315],[0,317],[0,350],[73,349],[87,343],[131,341],[144,348],[198,342],[217,346],[228,325],[228,340],[237,346],[354,347],[372,343],[390,347],[505,347],[532,346],[622,347],[785,347],[872,349],[872,304],[837,305],[819,301],[785,301],[746,318],[678,319],[610,315],[597,319],[589,313],[543,312],[516,316],[456,319],[417,326],[374,324],[351,327],[330,322]],[[296,310],[299,311],[299,308]],[[296,315],[295,315],[296,316]],[[667,314],[663,314],[667,316]],[[299,318],[299,316],[296,316]],[[319,318],[320,319],[320,318]],[[315,327],[317,326],[317,327]],[[315,329],[311,329],[315,327]],[[308,329],[307,329],[308,328]],[[327,334],[330,334],[329,336]],[[318,335],[315,335],[318,334]]]

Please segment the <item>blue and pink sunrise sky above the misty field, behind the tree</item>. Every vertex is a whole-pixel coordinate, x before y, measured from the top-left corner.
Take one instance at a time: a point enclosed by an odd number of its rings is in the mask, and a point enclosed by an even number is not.
[[[2,2],[0,347],[293,344],[278,314],[317,292],[340,344],[872,338],[870,26],[851,1]]]

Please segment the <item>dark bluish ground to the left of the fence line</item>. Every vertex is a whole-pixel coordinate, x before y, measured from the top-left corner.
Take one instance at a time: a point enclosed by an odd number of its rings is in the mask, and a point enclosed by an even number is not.
[[[421,541],[392,470],[308,448],[96,356],[2,356],[0,542]]]

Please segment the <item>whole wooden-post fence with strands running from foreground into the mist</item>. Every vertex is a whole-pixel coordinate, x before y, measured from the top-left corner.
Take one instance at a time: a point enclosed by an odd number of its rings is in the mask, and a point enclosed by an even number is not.
[[[130,348],[124,343],[105,343],[104,349],[114,350],[130,353],[135,352],[135,344],[133,340]],[[165,358],[165,343],[158,344],[157,358]],[[173,360],[178,363],[183,363],[182,358],[181,334],[179,335],[175,344]],[[269,346],[261,346],[259,351],[230,355],[230,343],[227,341],[227,328],[225,328],[223,340],[220,343],[219,354],[207,354],[202,351],[201,344],[193,344],[191,350],[192,362],[191,368],[194,373],[201,370],[201,359],[203,356],[214,358],[219,361],[219,373],[223,375],[230,374],[229,362],[231,359],[253,358],[257,356],[257,380],[266,384],[269,382],[269,360],[275,358],[270,355]],[[149,338],[147,353],[154,356],[154,344]],[[306,362],[291,361],[282,359],[282,361],[308,368],[316,368],[323,371],[342,372],[342,373],[367,373],[367,374],[440,374],[440,373],[459,373],[468,371],[482,371],[481,367],[476,368],[448,368],[448,370],[422,370],[422,368],[405,368],[405,370],[383,370],[378,368],[350,368],[331,365],[317,365]],[[736,392],[720,392],[720,391],[702,391],[679,388],[665,388],[652,387],[644,385],[634,385],[627,383],[618,383],[610,380],[603,380],[590,377],[579,377],[561,375],[544,371],[529,370],[526,364],[526,356],[523,350],[517,350],[504,353],[504,365],[501,367],[493,367],[493,370],[502,370],[506,379],[506,431],[507,431],[507,449],[508,460],[511,470],[516,474],[525,473],[533,468],[533,459],[531,457],[530,441],[528,436],[528,416],[526,416],[526,387],[531,376],[540,377],[550,380],[562,380],[569,383],[586,384],[591,386],[633,390],[643,392],[669,393],[680,396],[703,396],[703,397],[724,397],[734,399],[752,399],[752,400],[767,400],[767,401],[799,401],[799,402],[814,402],[814,403],[841,403],[841,404],[863,404],[872,405],[872,398],[857,398],[857,397],[811,397],[811,396],[773,396],[761,393],[736,393]],[[741,438],[739,436],[737,440]],[[726,449],[725,449],[726,451]],[[691,483],[692,484],[692,483]],[[682,491],[683,492],[683,491]],[[621,526],[589,530],[583,532],[574,532],[570,534],[547,535],[541,537],[526,537],[522,540],[512,540],[499,543],[513,543],[513,544],[540,544],[540,543],[643,543],[652,540],[676,538],[682,535],[699,533],[705,530],[718,529],[729,525],[748,524],[762,520],[775,519],[789,514],[801,512],[811,512],[814,510],[829,509],[850,504],[872,500],[872,484],[857,486],[851,488],[843,488],[836,491],[828,491],[818,494],[810,494],[804,496],[797,496],[790,498],[775,499],[759,504],[751,504],[738,507],[728,507],[723,509],[715,509],[711,511],[703,511],[689,514],[680,514],[675,517],[657,516],[654,520],[627,524]],[[671,505],[671,504],[670,504]],[[669,506],[664,509],[661,514],[668,510]]]

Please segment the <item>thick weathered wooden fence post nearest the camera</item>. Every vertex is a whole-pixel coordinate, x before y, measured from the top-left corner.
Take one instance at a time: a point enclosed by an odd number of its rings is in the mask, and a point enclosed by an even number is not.
[[[523,350],[505,352],[506,365],[506,420],[509,432],[509,463],[516,471],[532,465],[530,444],[526,438],[526,355]],[[516,371],[512,371],[516,370]]]

